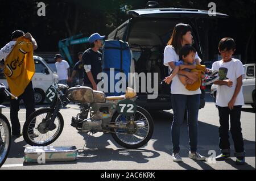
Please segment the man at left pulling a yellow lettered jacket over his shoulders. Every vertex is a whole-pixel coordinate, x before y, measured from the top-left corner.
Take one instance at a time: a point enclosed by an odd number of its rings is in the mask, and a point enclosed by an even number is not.
[[[33,51],[38,48],[30,33],[16,30],[11,33],[11,41],[0,50],[0,60],[5,61],[4,73],[9,89],[18,100],[11,98],[11,125],[13,137],[20,137],[18,119],[19,102],[22,99],[26,107],[26,119],[35,111],[34,89],[32,77],[35,73]],[[34,132],[32,137],[38,137]]]

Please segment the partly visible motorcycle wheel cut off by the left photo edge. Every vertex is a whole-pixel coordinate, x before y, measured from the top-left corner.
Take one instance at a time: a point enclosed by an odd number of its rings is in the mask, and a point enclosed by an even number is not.
[[[5,163],[11,147],[11,127],[5,116],[0,114],[0,168]]]

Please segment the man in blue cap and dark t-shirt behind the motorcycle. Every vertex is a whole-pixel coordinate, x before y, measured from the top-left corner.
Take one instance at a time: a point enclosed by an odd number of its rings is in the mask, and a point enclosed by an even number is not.
[[[97,90],[97,75],[102,72],[102,54],[99,49],[102,48],[105,36],[101,36],[99,33],[94,33],[88,39],[91,44],[91,48],[85,50],[82,55],[82,62],[84,64],[84,86],[92,87],[93,90]]]

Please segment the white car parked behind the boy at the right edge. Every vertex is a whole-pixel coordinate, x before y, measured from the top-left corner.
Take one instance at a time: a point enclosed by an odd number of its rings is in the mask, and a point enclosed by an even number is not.
[[[243,65],[245,68],[245,77],[243,78],[243,98],[245,104],[251,104],[255,108],[255,64]],[[211,95],[216,102],[217,85],[212,85]]]

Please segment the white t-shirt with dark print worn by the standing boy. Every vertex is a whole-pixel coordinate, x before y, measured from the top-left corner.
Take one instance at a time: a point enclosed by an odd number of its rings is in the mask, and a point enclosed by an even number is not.
[[[232,99],[234,95],[234,91],[237,86],[237,78],[243,76],[245,74],[245,69],[243,68],[243,64],[240,60],[232,58],[229,62],[217,61],[212,65],[212,70],[219,70],[220,68],[228,69],[228,73],[226,78],[230,79],[233,82],[232,87],[228,86],[217,86],[217,96],[216,96],[216,105],[220,107],[228,107],[228,103]],[[245,101],[243,99],[242,87],[237,95],[236,102],[234,106],[243,106]]]

